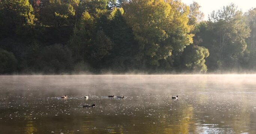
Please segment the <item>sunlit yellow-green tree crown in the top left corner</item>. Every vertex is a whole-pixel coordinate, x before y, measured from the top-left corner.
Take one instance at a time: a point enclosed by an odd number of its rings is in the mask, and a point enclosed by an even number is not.
[[[2,20],[0,34],[26,35],[36,20],[28,0],[1,0],[0,2],[0,20]]]

